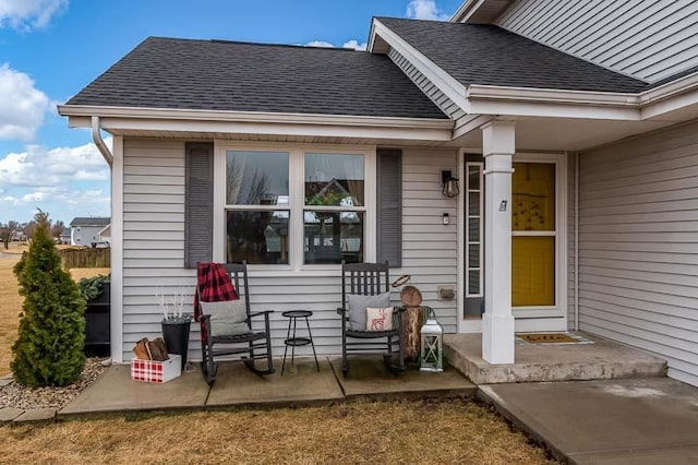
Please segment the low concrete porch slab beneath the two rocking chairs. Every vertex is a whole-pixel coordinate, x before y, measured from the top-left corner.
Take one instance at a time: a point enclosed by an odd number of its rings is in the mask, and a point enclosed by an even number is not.
[[[456,370],[424,373],[411,368],[400,374],[385,369],[382,357],[350,359],[349,374],[341,375],[339,359],[322,358],[316,371],[312,358],[258,377],[241,362],[221,362],[216,382],[208,386],[198,368],[164,383],[131,380],[131,367],[113,365],[75,400],[58,412],[59,418],[124,412],[220,409],[323,405],[350,398],[404,398],[413,396],[472,397],[476,386]]]

